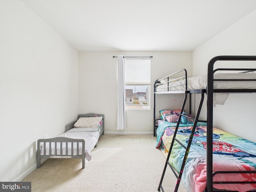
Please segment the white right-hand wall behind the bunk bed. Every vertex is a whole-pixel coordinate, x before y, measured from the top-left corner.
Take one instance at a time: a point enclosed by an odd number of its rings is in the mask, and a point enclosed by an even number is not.
[[[196,48],[193,51],[193,76],[206,74],[208,62],[214,56],[256,55],[255,18],[256,10]],[[256,142],[255,100],[255,94],[230,94],[223,106],[214,108],[213,125]],[[206,108],[201,116],[206,119]]]

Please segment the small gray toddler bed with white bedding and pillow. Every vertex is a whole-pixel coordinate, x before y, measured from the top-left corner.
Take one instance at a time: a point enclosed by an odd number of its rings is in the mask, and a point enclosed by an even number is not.
[[[42,158],[81,158],[84,168],[85,159],[92,159],[91,151],[104,134],[104,115],[81,114],[65,128],[66,132],[56,138],[37,141],[37,168],[40,168]]]

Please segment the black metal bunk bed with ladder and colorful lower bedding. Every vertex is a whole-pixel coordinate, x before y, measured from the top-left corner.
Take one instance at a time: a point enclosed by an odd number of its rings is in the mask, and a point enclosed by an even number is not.
[[[213,127],[215,104],[224,104],[230,93],[256,93],[256,74],[252,73],[256,68],[214,70],[217,61],[256,61],[256,56],[216,56],[208,63],[208,74],[205,76],[188,78],[186,70],[182,69],[156,80],[154,84],[154,136],[158,136],[157,147],[166,145],[168,151],[158,191],[164,191],[162,181],[167,166],[170,166],[177,178],[175,192],[181,180],[185,181],[183,183],[190,192],[245,192],[256,189],[256,143]],[[228,73],[222,74],[222,71]],[[177,78],[180,73],[184,76]],[[184,94],[177,123],[164,121],[159,124],[161,120],[156,119],[156,95],[177,93]],[[188,98],[191,112],[191,94],[201,95],[194,118],[183,113]],[[205,94],[206,126],[198,126]],[[182,124],[182,118],[192,120],[192,125]],[[194,170],[200,170],[198,177]]]

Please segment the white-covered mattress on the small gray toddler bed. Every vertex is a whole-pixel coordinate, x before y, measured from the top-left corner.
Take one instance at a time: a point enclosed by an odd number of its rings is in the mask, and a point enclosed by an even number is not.
[[[96,145],[100,134],[98,132],[98,128],[72,128],[67,132],[59,135],[58,137],[67,137],[73,139],[84,139],[85,140],[85,158],[86,160],[90,161],[92,159],[91,151],[93,150],[94,146]],[[82,143],[79,143],[79,155],[82,155]],[[54,143],[51,145],[51,155],[54,155],[55,146]],[[73,155],[77,155],[77,147],[74,143],[74,152]],[[41,155],[44,155],[44,146],[41,146]],[[49,155],[49,143],[46,144],[46,155]],[[57,143],[57,155],[60,154],[60,143]],[[62,154],[66,155],[66,144],[62,144]],[[71,143],[68,143],[68,155],[71,155]]]

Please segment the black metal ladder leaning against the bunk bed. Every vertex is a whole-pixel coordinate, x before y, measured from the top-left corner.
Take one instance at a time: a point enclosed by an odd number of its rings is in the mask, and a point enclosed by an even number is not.
[[[181,181],[181,177],[182,177],[182,173],[183,173],[183,170],[184,170],[184,166],[186,164],[186,160],[187,160],[187,156],[188,156],[188,152],[189,152],[189,149],[190,149],[190,145],[192,143],[192,139],[193,139],[193,136],[194,136],[194,131],[196,129],[196,124],[198,122],[198,118],[199,118],[199,114],[200,114],[200,111],[201,111],[201,108],[202,108],[202,104],[203,104],[203,101],[204,101],[204,93],[206,91],[205,90],[200,90],[200,93],[201,93],[201,100],[200,100],[200,103],[199,103],[199,106],[198,106],[198,110],[196,112],[196,117],[195,118],[190,118],[182,113],[180,113],[180,116],[178,118],[178,123],[177,123],[177,126],[176,126],[176,129],[174,131],[174,134],[173,134],[173,138],[172,138],[172,143],[171,143],[171,146],[170,146],[170,150],[168,152],[168,156],[166,158],[166,163],[165,163],[165,166],[164,166],[164,170],[163,170],[163,173],[162,173],[162,177],[161,177],[161,180],[160,180],[160,184],[158,186],[158,191],[160,191],[160,189],[162,189],[162,192],[164,192],[164,189],[163,189],[163,186],[162,186],[162,182],[163,182],[163,179],[164,179],[164,174],[166,172],[166,168],[167,166],[170,166],[170,168],[172,169],[174,175],[176,176],[177,178],[177,182],[176,182],[176,186],[175,186],[175,189],[174,189],[174,192],[177,192],[178,191],[178,187],[180,185],[180,181]],[[182,108],[181,108],[181,112],[184,110],[184,107],[185,107],[185,104],[186,104],[186,100],[187,100],[187,95],[190,94],[190,91],[185,91],[185,96],[184,96],[184,101],[183,101],[183,104],[182,104]],[[180,120],[181,120],[181,117],[182,116],[185,116],[186,118],[190,118],[190,119],[193,119],[194,120],[194,124],[193,124],[193,128],[192,128],[192,132],[190,134],[190,138],[189,138],[189,141],[188,141],[188,145],[187,146],[184,146],[177,138],[176,138],[176,134],[178,132],[178,128],[179,128],[179,124],[180,124]],[[178,142],[183,148],[185,148],[186,152],[184,154],[184,158],[183,158],[183,162],[182,162],[182,166],[180,168],[180,171],[179,171],[179,174],[176,173],[176,171],[174,170],[174,168],[172,167],[172,165],[170,164],[169,162],[169,159],[170,159],[170,155],[171,155],[171,152],[172,152],[172,146],[174,145],[174,142]]]

